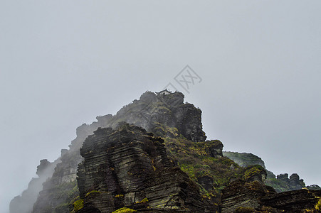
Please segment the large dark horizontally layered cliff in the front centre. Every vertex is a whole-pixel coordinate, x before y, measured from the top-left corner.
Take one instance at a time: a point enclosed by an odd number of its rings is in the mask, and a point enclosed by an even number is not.
[[[163,142],[128,124],[95,131],[80,149],[85,160],[79,165],[78,187],[84,207],[78,212],[112,212],[121,207],[213,211],[214,205],[202,202],[199,187],[169,161]]]

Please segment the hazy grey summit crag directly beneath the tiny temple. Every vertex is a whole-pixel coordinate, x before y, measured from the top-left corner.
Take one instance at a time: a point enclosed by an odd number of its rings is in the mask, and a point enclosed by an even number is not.
[[[205,141],[201,110],[184,104],[184,94],[174,92],[155,94],[145,92],[139,100],[129,104],[110,119],[115,128],[120,121],[140,126],[157,136],[175,137],[180,134],[191,141]]]

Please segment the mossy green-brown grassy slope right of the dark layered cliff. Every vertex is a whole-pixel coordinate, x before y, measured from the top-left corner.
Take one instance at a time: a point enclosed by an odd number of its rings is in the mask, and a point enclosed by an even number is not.
[[[207,191],[201,188],[202,195],[216,196],[232,179],[243,176],[245,169],[233,160],[226,157],[211,157],[209,141],[192,142],[180,136],[179,138],[165,138],[164,143],[169,157],[177,159],[179,168],[188,174],[191,180],[198,182],[198,179],[204,175],[214,180],[212,190]],[[231,165],[234,169],[231,169]]]

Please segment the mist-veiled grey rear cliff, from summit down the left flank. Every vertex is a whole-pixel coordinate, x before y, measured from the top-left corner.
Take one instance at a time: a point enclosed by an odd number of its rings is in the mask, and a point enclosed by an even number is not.
[[[83,124],[78,127],[77,137],[70,144],[70,149],[62,151],[61,163],[58,163],[56,168],[53,167],[54,170],[51,168],[52,178],[46,182],[44,182],[46,179],[38,181],[41,188],[43,184],[43,190],[34,205],[33,212],[69,212],[70,197],[75,198],[78,195],[75,180],[78,163],[83,160],[79,153],[83,141],[98,128],[115,128],[122,121],[152,131],[157,136],[171,138],[183,136],[191,141],[206,139],[202,131],[201,110],[196,109],[193,104],[184,104],[184,94],[145,92],[139,100],[122,107],[114,116],[111,114],[98,116],[93,124]],[[23,202],[17,199],[14,206],[21,209],[21,213],[28,212]],[[33,202],[30,203],[32,207]]]

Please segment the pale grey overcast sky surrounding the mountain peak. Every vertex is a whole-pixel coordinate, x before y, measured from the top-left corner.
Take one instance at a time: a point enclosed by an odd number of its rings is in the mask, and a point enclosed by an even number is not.
[[[0,0],[0,212],[75,129],[185,92],[226,151],[321,185],[321,1]]]

